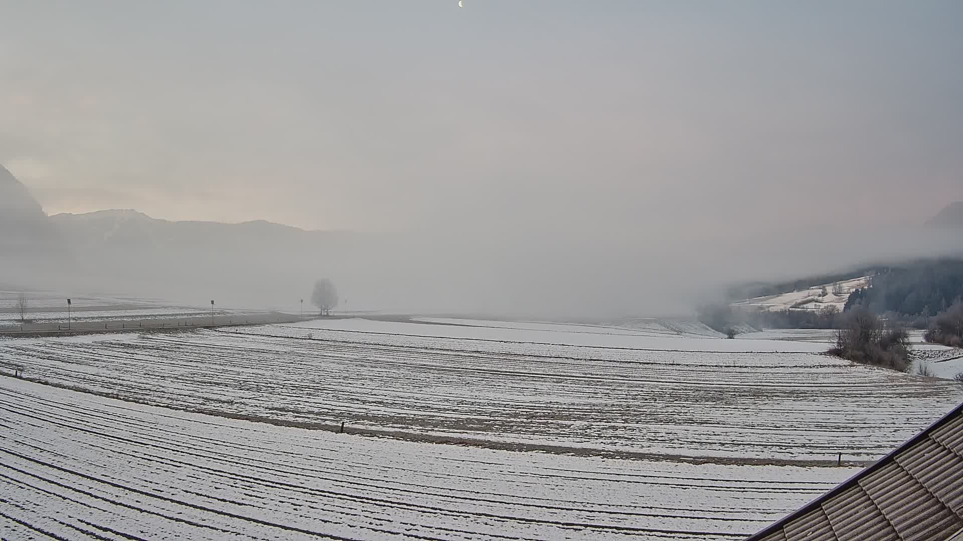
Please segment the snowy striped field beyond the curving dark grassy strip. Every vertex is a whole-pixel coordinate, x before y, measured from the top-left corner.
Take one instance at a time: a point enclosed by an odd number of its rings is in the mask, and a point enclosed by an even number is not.
[[[348,421],[419,437],[736,459],[826,460],[841,451],[873,459],[963,399],[950,382],[806,352],[591,348],[560,337],[537,345],[316,328],[365,324],[321,323],[95,342],[8,339],[0,341],[0,365],[173,407]],[[429,333],[519,330],[372,323]]]

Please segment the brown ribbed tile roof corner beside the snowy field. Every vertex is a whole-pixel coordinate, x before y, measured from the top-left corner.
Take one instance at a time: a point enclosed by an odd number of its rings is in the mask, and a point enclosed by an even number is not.
[[[963,541],[963,404],[746,541]]]

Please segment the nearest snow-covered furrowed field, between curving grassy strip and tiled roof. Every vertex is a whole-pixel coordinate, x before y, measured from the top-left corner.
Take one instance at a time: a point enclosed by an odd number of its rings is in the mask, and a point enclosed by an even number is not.
[[[736,540],[858,471],[419,444],[2,376],[0,408],[6,539]]]

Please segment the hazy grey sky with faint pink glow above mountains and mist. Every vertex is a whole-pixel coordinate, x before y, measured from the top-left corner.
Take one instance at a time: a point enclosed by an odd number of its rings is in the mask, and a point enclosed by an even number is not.
[[[963,199],[963,2],[0,4],[0,163],[48,213],[583,231]]]

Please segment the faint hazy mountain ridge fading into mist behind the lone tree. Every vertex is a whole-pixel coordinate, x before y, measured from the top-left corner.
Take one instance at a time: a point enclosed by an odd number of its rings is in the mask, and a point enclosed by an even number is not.
[[[278,299],[296,304],[318,277],[349,275],[348,267],[383,252],[377,246],[385,244],[378,235],[265,220],[171,221],[134,210],[58,214],[50,222],[77,262],[74,274],[91,283],[168,299],[229,296],[260,306]]]

